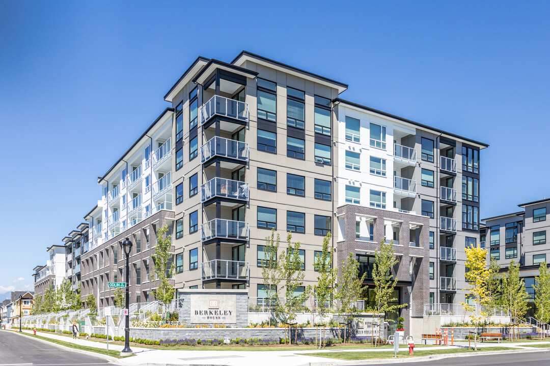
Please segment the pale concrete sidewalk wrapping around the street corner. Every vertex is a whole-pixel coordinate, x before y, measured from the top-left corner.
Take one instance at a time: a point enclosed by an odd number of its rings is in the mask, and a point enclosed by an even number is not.
[[[25,330],[27,334],[32,334],[32,331]],[[64,342],[70,342],[76,345],[95,347],[106,349],[106,342],[96,342],[86,340],[82,337],[78,339],[73,339],[72,337],[62,336],[59,334],[47,333],[47,332],[37,332],[37,335],[61,340]],[[483,343],[478,344],[478,348],[486,347],[495,347],[502,346],[510,348],[510,351],[515,352],[525,352],[525,351],[544,351],[544,348],[529,348],[530,344],[550,344],[550,342],[521,342],[518,344],[496,344],[496,343]],[[437,347],[438,350],[445,349],[458,349],[467,347],[468,342],[455,342],[454,346],[440,346]],[[473,345],[472,345],[473,346]],[[122,345],[114,345],[109,343],[109,350],[122,351],[124,347]],[[392,351],[393,348],[377,348],[373,350],[372,348],[365,349],[353,349],[353,350],[342,350],[329,348],[325,350],[295,350],[295,351],[232,351],[230,349],[223,349],[223,346],[220,347],[220,350],[211,350],[211,351],[200,351],[200,348],[197,350],[155,350],[151,348],[130,346],[134,351],[135,356],[123,358],[117,360],[115,363],[120,365],[150,365],[150,366],[167,366],[167,365],[228,365],[228,366],[279,366],[284,364],[285,366],[301,366],[301,365],[350,365],[356,362],[354,361],[342,361],[338,359],[329,359],[329,358],[320,358],[315,356],[307,356],[307,353],[323,353],[323,352],[388,352]],[[422,347],[420,345],[415,347],[415,351],[419,350],[433,350],[433,347]],[[408,352],[409,349],[405,345],[401,345],[399,352]],[[299,354],[304,353],[304,354]],[[443,358],[444,355],[441,355]],[[448,356],[447,356],[448,357]],[[415,358],[415,361],[421,361],[422,358]],[[438,357],[439,358],[439,357]],[[111,357],[109,359],[112,360]],[[433,357],[432,357],[433,359]],[[403,362],[404,359],[392,360],[387,359],[383,362],[392,363],[395,361]],[[378,363],[380,361],[377,361]],[[361,363],[371,363],[371,362],[361,362]]]

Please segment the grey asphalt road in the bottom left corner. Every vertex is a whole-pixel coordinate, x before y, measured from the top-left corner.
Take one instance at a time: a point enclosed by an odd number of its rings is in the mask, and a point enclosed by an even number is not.
[[[112,365],[106,359],[63,350],[32,337],[0,331],[0,366],[7,365]]]

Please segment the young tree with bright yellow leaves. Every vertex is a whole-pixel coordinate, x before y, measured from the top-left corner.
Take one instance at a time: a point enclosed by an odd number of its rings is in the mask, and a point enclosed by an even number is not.
[[[525,281],[519,277],[519,263],[510,261],[508,272],[502,274],[502,295],[500,303],[507,309],[510,321],[518,322],[527,312],[527,298],[529,294],[525,292]],[[513,332],[511,332],[513,336]]]

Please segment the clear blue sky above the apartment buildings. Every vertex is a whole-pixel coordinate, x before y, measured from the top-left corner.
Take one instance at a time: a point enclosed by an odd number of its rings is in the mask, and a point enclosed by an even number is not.
[[[481,217],[548,197],[549,19],[536,1],[0,2],[0,294],[32,287],[199,55],[246,49],[490,144]]]

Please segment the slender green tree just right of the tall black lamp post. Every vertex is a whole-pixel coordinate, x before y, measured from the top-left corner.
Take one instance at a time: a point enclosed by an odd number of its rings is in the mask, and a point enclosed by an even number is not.
[[[158,286],[151,293],[155,296],[155,299],[169,305],[175,297],[175,289],[171,283],[172,276],[174,275],[174,263],[172,260],[172,254],[170,252],[172,248],[172,237],[166,235],[168,232],[168,226],[164,225],[158,229],[157,232],[157,244],[155,245],[155,254],[153,263],[155,263],[155,273],[158,278]]]

